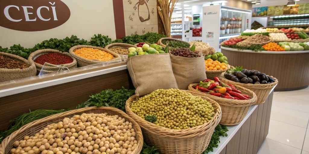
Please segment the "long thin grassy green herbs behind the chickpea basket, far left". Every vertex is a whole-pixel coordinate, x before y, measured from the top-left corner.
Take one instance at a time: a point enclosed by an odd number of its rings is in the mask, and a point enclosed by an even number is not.
[[[4,131],[0,132],[0,142],[2,142],[3,139],[6,138],[6,136],[9,136],[12,132],[17,131],[19,128],[21,128],[23,125],[28,124],[34,120],[38,120],[44,117],[47,117],[49,115],[54,115],[57,113],[70,111],[70,109],[67,110],[36,110],[36,111],[30,111],[29,113],[24,113],[20,115],[19,117],[11,120],[11,125],[9,128]]]

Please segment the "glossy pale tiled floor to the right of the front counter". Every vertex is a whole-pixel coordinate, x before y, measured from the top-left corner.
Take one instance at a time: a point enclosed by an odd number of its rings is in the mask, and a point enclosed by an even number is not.
[[[309,154],[309,87],[274,92],[269,132],[258,154]]]

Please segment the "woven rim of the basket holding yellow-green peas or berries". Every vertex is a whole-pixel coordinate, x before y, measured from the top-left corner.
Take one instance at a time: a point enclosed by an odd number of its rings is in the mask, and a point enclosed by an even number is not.
[[[133,113],[131,111],[131,108],[129,107],[129,105],[131,105],[132,101],[129,102],[129,99],[133,98],[133,97],[137,97],[136,95],[131,96],[126,101],[126,103],[125,103],[126,113],[129,116],[131,116],[133,119],[138,119],[139,121],[143,121],[144,124],[139,123],[139,125],[141,125],[141,127],[143,129],[148,130],[148,128],[145,128],[145,126],[147,126],[149,128],[160,129],[160,130],[157,131],[158,134],[166,136],[166,137],[173,137],[173,138],[186,138],[187,134],[193,134],[193,135],[190,136],[190,138],[195,137],[195,136],[200,136],[201,134],[204,134],[204,132],[206,132],[204,129],[206,129],[209,126],[211,126],[212,124],[216,123],[215,119],[217,119],[217,120],[219,119],[219,121],[220,121],[220,119],[221,119],[221,107],[216,101],[214,101],[213,99],[210,99],[209,97],[205,97],[203,95],[194,94],[192,91],[187,91],[187,90],[181,90],[181,91],[188,92],[188,93],[191,93],[192,95],[199,96],[203,99],[206,99],[208,102],[212,103],[212,106],[216,107],[215,110],[217,111],[216,114],[214,115],[213,119],[210,120],[209,122],[203,124],[203,125],[188,128],[188,129],[181,129],[181,130],[169,129],[169,128],[165,128],[165,127],[162,127],[162,126],[158,126],[154,123],[150,123],[149,121],[146,121],[145,119],[141,118],[140,116],[136,115],[135,113]]]

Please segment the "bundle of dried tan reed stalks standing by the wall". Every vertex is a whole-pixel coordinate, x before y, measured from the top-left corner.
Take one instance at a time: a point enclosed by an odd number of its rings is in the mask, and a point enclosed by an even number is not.
[[[158,0],[157,9],[167,37],[171,37],[171,18],[178,0]]]

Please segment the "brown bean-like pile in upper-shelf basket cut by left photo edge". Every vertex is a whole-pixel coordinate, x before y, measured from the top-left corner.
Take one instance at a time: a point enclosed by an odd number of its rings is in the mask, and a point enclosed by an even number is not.
[[[14,69],[14,68],[20,68],[25,69],[28,68],[29,65],[27,65],[24,62],[0,55],[0,68],[6,68],[6,69]]]

